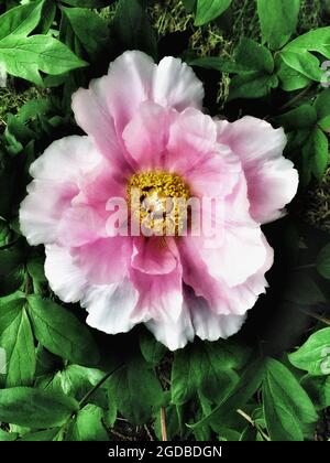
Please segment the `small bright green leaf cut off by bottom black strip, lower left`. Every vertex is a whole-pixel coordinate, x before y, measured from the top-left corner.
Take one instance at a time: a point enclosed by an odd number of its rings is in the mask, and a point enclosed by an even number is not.
[[[80,410],[66,440],[69,441],[109,441],[102,424],[103,410],[94,405],[87,405]]]

